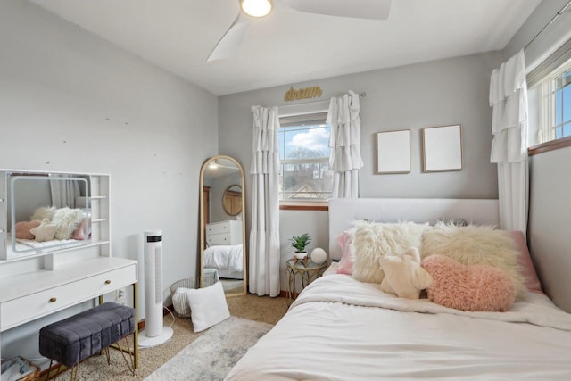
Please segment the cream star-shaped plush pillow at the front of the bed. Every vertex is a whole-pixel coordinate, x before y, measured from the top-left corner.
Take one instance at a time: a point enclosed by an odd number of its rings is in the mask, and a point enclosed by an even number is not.
[[[420,266],[420,253],[410,247],[400,255],[385,255],[379,258],[385,272],[381,290],[400,298],[418,299],[420,291],[432,285],[432,277]]]

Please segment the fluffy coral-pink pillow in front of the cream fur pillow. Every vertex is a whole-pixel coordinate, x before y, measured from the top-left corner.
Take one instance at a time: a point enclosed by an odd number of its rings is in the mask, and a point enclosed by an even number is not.
[[[464,265],[434,254],[422,261],[433,277],[428,299],[462,311],[508,311],[516,299],[514,282],[501,269],[488,265]]]

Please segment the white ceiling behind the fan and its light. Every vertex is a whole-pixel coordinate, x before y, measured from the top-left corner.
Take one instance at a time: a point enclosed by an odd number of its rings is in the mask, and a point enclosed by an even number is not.
[[[215,95],[501,50],[541,0],[393,0],[386,21],[274,0],[236,56],[206,62],[238,0],[29,0]],[[351,1],[351,0],[347,0]]]

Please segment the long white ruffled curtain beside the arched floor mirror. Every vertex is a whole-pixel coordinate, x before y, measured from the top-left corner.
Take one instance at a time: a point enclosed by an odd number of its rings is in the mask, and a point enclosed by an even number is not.
[[[252,231],[249,290],[279,295],[279,143],[277,106],[253,106]]]

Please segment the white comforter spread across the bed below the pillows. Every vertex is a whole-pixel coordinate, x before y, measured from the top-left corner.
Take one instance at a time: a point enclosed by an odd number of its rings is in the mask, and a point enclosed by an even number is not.
[[[227,379],[570,380],[571,314],[540,294],[508,312],[462,312],[330,275]]]

